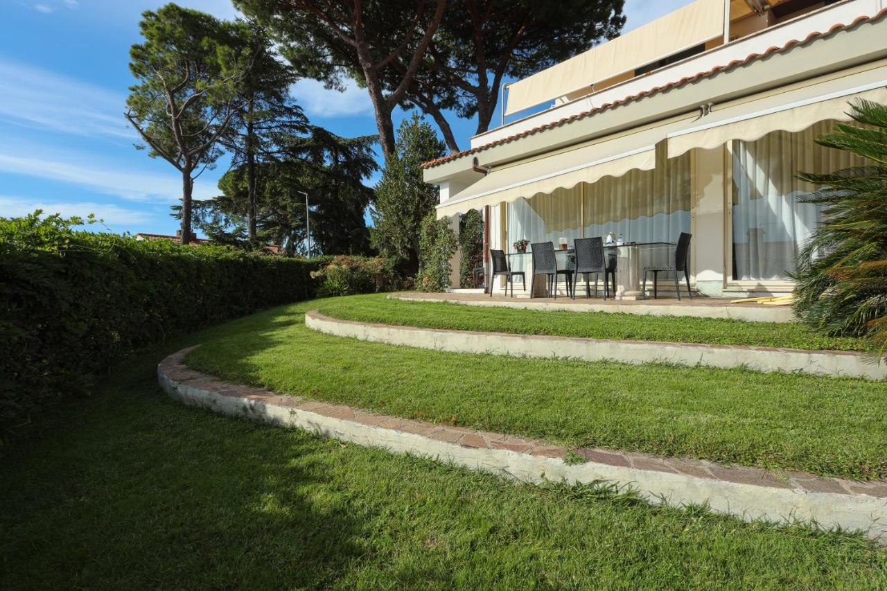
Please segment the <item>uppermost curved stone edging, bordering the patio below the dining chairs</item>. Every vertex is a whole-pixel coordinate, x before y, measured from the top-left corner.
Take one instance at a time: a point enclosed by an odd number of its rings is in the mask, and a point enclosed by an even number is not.
[[[537,311],[575,311],[575,312],[609,312],[620,314],[638,314],[640,316],[690,316],[693,318],[715,318],[745,320],[746,322],[778,322],[795,321],[794,312],[786,306],[740,305],[731,303],[689,303],[687,298],[680,305],[671,300],[640,300],[631,303],[620,303],[610,300],[530,300],[530,298],[503,298],[474,296],[466,294],[389,294],[389,299],[403,302],[437,302],[455,303],[481,308],[512,308],[514,310]]]

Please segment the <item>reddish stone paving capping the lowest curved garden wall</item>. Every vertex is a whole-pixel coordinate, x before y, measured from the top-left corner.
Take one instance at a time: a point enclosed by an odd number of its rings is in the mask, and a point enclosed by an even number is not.
[[[254,403],[268,406],[310,411],[311,413],[323,414],[343,421],[356,422],[381,429],[394,429],[464,447],[509,450],[514,453],[526,453],[528,455],[561,459],[566,458],[569,452],[574,452],[584,456],[586,461],[608,466],[670,472],[689,477],[710,478],[744,485],[793,489],[802,493],[866,494],[878,498],[887,497],[887,482],[885,481],[861,482],[843,478],[823,478],[805,472],[764,470],[745,466],[723,466],[710,461],[665,458],[647,453],[627,453],[612,449],[567,448],[526,437],[402,419],[386,414],[371,413],[351,406],[335,405],[299,396],[281,395],[271,390],[254,388],[252,386],[229,384],[220,382],[211,375],[200,374],[185,366],[183,362],[184,357],[192,349],[194,347],[178,351],[167,359],[163,359],[158,366],[158,374],[165,376],[173,382],[179,382],[191,388],[214,392],[225,397],[244,398]]]

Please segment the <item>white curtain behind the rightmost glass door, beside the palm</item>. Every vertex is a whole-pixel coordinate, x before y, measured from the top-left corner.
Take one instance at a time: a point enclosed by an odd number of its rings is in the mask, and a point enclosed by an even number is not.
[[[797,197],[815,187],[797,172],[831,172],[861,159],[819,146],[815,138],[834,127],[819,122],[798,132],[773,131],[733,144],[733,278],[786,280],[797,252],[820,223],[820,207]]]

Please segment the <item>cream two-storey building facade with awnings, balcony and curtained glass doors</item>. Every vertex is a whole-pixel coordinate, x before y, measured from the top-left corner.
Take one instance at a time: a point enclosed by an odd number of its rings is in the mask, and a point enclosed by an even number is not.
[[[488,248],[527,272],[515,240],[558,248],[612,232],[634,245],[618,248],[620,297],[640,296],[640,268],[666,262],[680,232],[693,235],[698,292],[789,291],[821,217],[797,200],[815,188],[797,172],[861,163],[814,139],[848,121],[853,100],[887,103],[884,9],[697,0],[514,83],[514,121],[425,164],[438,217],[482,210]]]

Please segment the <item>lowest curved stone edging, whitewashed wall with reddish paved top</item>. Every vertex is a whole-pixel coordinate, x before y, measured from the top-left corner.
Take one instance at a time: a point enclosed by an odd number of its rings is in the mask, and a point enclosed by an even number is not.
[[[299,427],[324,437],[392,453],[414,453],[527,482],[607,481],[631,487],[651,504],[666,502],[681,507],[706,503],[713,511],[747,521],[800,520],[859,530],[887,541],[887,484],[883,482],[857,483],[797,472],[773,477],[760,469],[611,450],[577,450],[589,461],[568,465],[565,448],[523,437],[398,419],[218,382],[184,366],[184,356],[192,349],[170,355],[157,367],[161,388],[189,406]]]

